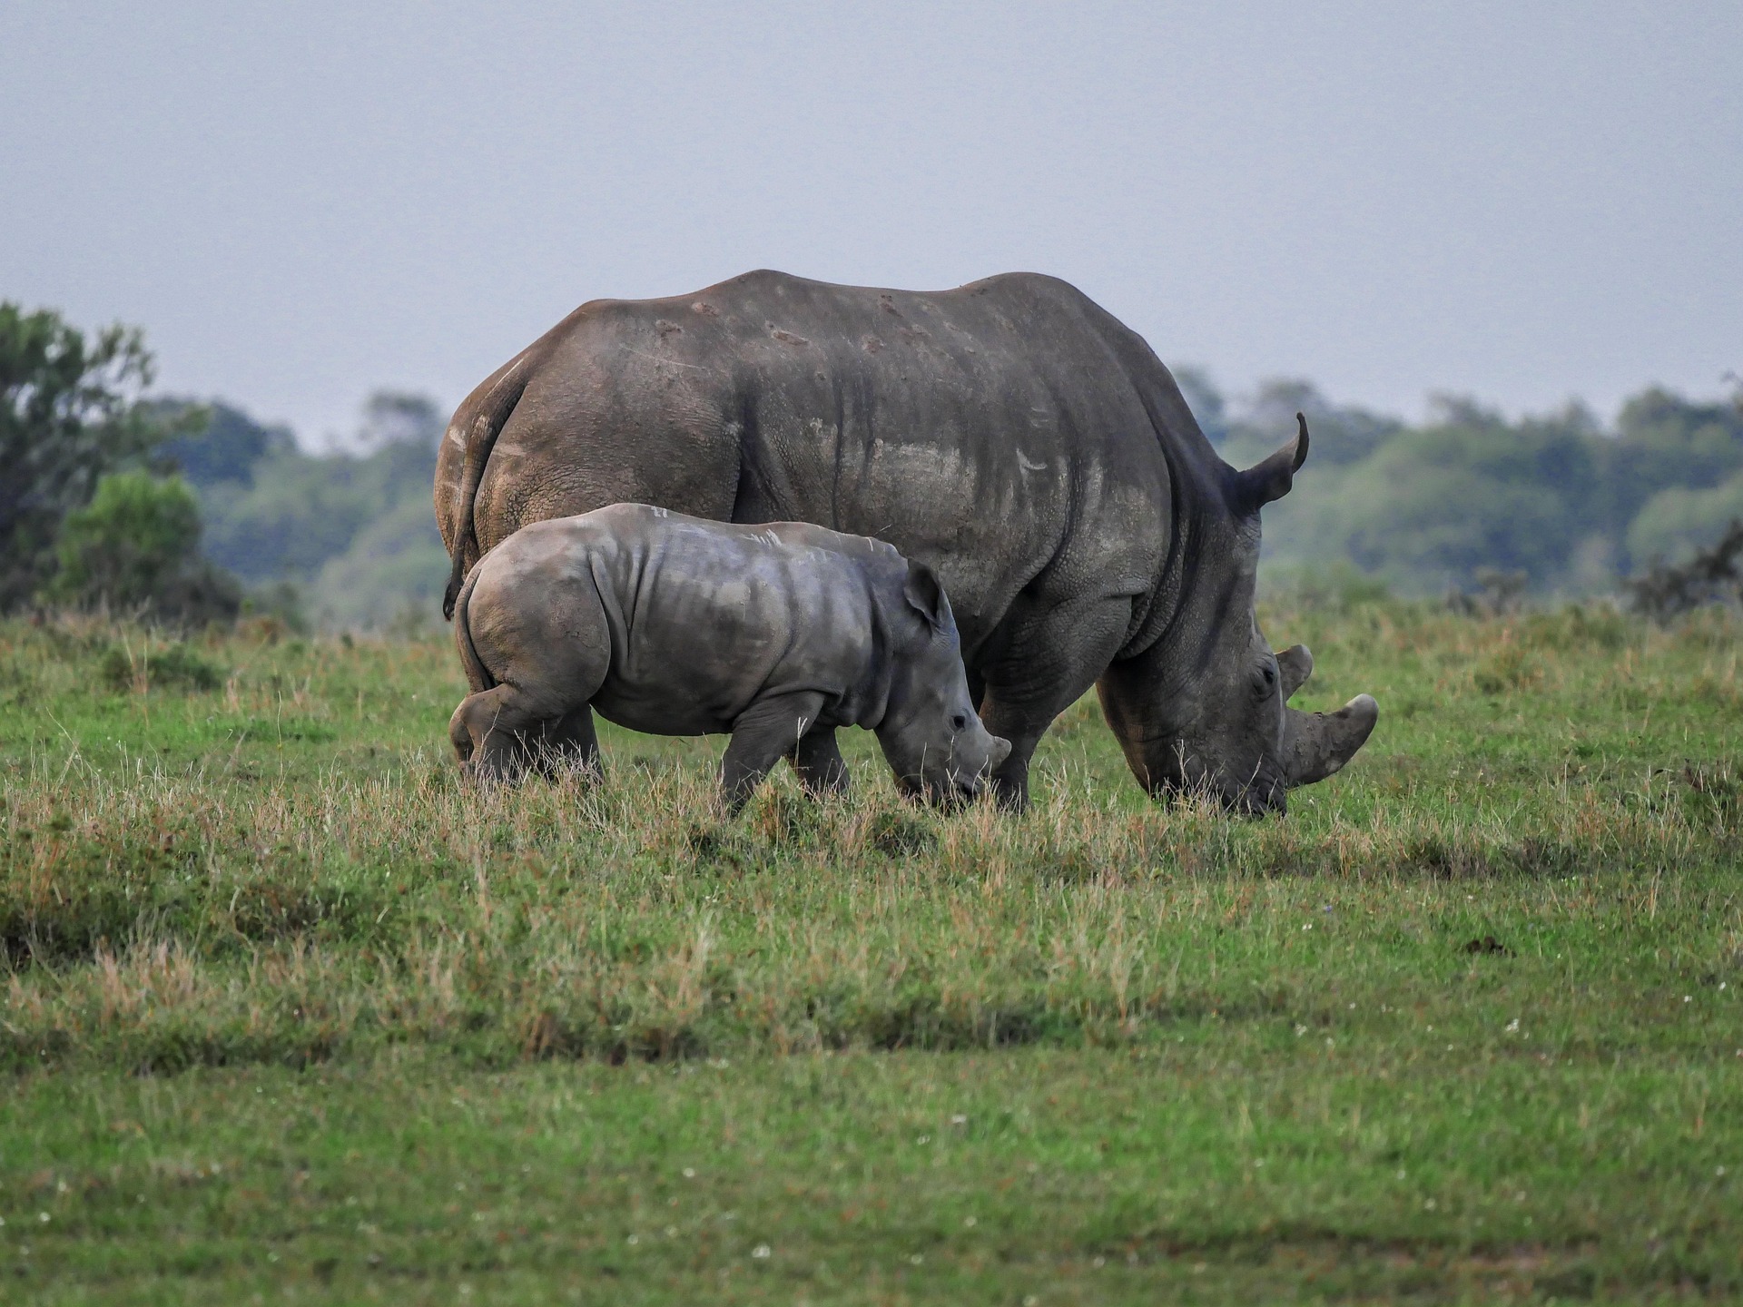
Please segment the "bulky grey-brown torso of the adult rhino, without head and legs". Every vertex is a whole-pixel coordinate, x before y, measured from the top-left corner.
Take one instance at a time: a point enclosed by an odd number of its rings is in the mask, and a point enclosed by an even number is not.
[[[1051,277],[755,272],[584,305],[542,349],[479,486],[485,547],[615,500],[880,537],[939,572],[971,662],[1020,601],[1140,605],[1178,493],[1220,467],[1149,347]]]

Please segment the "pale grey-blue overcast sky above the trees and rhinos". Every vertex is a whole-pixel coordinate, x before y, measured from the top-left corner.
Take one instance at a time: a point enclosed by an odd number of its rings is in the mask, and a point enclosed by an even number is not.
[[[1065,277],[1225,390],[1743,371],[1743,3],[0,5],[0,298],[319,443],[582,300]]]

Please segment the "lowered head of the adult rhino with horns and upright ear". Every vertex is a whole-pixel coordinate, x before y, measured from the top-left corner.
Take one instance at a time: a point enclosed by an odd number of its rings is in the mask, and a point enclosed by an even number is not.
[[[1307,458],[1307,420],[1262,464],[1224,469],[1225,514],[1206,514],[1180,551],[1187,596],[1168,634],[1114,662],[1096,687],[1138,782],[1152,795],[1210,793],[1236,812],[1283,812],[1295,786],[1344,767],[1373,732],[1379,706],[1361,694],[1335,713],[1288,706],[1312,674],[1295,645],[1272,652],[1253,619],[1258,511],[1288,493]]]

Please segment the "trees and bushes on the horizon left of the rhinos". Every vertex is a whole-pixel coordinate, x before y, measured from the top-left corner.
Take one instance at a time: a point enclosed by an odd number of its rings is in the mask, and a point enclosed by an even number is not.
[[[0,612],[439,622],[436,401],[380,390],[315,453],[221,399],[150,385],[138,331],[87,336],[51,310],[0,305]]]

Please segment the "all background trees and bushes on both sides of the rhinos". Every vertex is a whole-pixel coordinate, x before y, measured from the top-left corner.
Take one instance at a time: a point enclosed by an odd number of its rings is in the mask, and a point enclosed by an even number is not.
[[[1309,474],[1265,509],[1272,586],[1489,603],[1623,594],[1743,518],[1743,385],[1706,401],[1645,389],[1611,420],[1577,403],[1509,420],[1440,396],[1408,423],[1304,380],[1229,397],[1199,369],[1177,378],[1236,465],[1307,415]],[[350,631],[437,620],[443,404],[380,390],[352,434],[312,451],[223,399],[153,397],[150,383],[138,331],[87,336],[0,305],[0,610],[187,622],[253,610]],[[1703,594],[1736,598],[1727,566]]]

